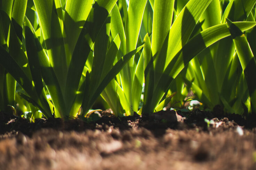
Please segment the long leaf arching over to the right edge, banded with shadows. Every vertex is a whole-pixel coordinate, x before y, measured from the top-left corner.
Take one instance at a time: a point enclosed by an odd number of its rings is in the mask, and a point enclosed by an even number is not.
[[[255,22],[236,23],[236,25],[243,31],[255,26],[255,24]],[[180,50],[180,52],[177,53],[176,56],[171,60],[169,65],[164,70],[159,83],[155,86],[155,91],[152,97],[153,100],[150,105],[152,107],[151,112],[153,112],[153,108],[155,108],[160,102],[172,80],[179,74],[185,65],[203,49],[228,35],[230,35],[230,33],[227,26],[225,24],[219,24],[205,29],[200,34],[197,34],[191,40],[189,40]]]

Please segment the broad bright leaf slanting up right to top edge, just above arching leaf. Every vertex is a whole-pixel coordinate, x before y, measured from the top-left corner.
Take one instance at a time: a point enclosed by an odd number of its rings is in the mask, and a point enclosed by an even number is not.
[[[207,6],[209,5],[210,2],[211,1],[190,0],[186,4],[186,6],[183,8],[183,10],[179,13],[179,15],[176,18],[176,20],[174,21],[174,23],[172,24],[171,29],[169,31],[169,36],[162,37],[163,45],[160,46],[160,49],[158,48],[158,51],[157,51],[158,52],[157,56],[161,56],[161,58],[159,59],[159,57],[156,57],[156,59],[154,61],[154,66],[155,66],[155,68],[154,68],[154,71],[155,71],[154,89],[153,89],[153,91],[152,90],[148,91],[145,88],[145,90],[146,90],[145,93],[153,93],[153,96],[150,100],[148,98],[149,95],[146,95],[147,99],[146,99],[146,103],[144,101],[145,104],[143,104],[142,113],[153,112],[155,107],[158,105],[158,103],[162,99],[163,95],[165,94],[166,90],[168,89],[170,83],[173,80],[173,78],[170,78],[168,76],[170,72],[168,74],[165,73],[166,68],[171,68],[169,66],[170,63],[175,63],[177,61],[177,59],[174,59],[174,56],[178,55],[177,53],[187,43],[197,21],[199,20],[201,14],[207,8]],[[166,10],[169,10],[169,9],[166,8]],[[167,14],[168,14],[168,12],[167,12]],[[157,20],[154,20],[154,21],[157,22]],[[154,24],[155,23],[153,22],[152,38],[154,37]],[[158,28],[158,29],[160,29],[160,28]],[[156,35],[156,37],[157,36],[158,35]],[[153,45],[152,45],[152,48],[154,48]],[[164,58],[164,59],[162,59],[162,58]],[[184,65],[182,66],[182,69],[183,68],[184,68]],[[178,68],[176,68],[176,69],[178,69]],[[181,71],[181,69],[178,69],[178,70],[179,70],[179,72]],[[171,70],[168,69],[168,71],[171,71]],[[175,77],[177,75],[178,74],[176,74]],[[145,76],[146,76],[146,73],[145,73]],[[150,80],[150,82],[152,82],[152,80]],[[163,85],[163,84],[165,84],[165,85]]]

